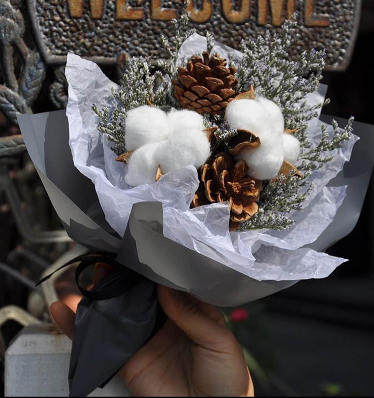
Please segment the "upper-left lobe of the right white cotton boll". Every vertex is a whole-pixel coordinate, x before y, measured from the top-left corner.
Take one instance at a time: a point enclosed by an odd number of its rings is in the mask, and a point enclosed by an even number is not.
[[[269,112],[255,100],[233,100],[226,107],[225,118],[230,128],[243,128],[266,139],[271,136]]]

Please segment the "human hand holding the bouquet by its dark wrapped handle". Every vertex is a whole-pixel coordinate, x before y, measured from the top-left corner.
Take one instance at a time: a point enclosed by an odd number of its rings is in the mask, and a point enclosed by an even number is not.
[[[128,390],[148,397],[253,397],[243,351],[221,312],[164,286],[158,298],[168,320],[119,371]],[[51,313],[72,338],[74,312],[57,301]]]

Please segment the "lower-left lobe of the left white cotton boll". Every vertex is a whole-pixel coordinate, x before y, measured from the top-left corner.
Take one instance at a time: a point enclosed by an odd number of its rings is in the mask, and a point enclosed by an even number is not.
[[[146,144],[134,151],[127,162],[126,184],[136,187],[156,182],[156,171],[159,166],[157,151],[161,142]]]

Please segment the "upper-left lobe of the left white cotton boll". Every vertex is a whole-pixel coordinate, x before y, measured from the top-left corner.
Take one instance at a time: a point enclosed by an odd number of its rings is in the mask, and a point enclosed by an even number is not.
[[[142,105],[126,114],[125,145],[128,151],[142,145],[159,142],[168,138],[167,114],[154,106]]]

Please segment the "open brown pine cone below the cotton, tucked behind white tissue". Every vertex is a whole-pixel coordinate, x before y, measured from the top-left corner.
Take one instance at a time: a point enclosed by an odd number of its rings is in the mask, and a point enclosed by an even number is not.
[[[246,175],[244,160],[236,162],[227,153],[219,153],[199,169],[200,187],[191,206],[229,201],[230,230],[249,220],[258,211],[262,182]]]

